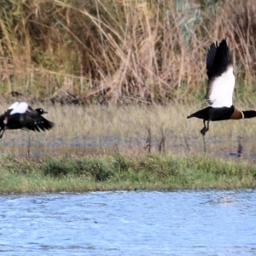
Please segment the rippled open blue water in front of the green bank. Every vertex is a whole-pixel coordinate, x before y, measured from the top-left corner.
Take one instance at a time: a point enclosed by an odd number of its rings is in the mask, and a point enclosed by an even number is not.
[[[2,195],[3,255],[256,255],[256,191]]]

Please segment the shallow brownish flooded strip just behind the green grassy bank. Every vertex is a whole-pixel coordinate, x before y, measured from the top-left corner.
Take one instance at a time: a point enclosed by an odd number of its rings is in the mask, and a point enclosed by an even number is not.
[[[44,141],[35,137],[25,137],[23,140],[3,140],[2,154],[15,154],[17,157],[40,157],[44,155],[102,155],[102,154],[123,154],[138,155],[147,154],[145,148],[147,137],[141,138],[119,138],[119,137],[73,137],[73,138],[49,138]],[[151,140],[151,152],[159,152],[159,141]],[[241,153],[237,139],[211,139],[206,138],[207,154],[231,160],[250,160],[256,161],[256,144],[251,140],[241,140]],[[183,138],[168,137],[162,153],[166,154],[204,154],[204,145],[201,137]]]

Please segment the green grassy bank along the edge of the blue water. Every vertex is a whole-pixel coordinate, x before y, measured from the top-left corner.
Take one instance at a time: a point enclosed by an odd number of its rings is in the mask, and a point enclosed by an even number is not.
[[[212,156],[1,157],[0,192],[235,189],[256,185],[256,166]]]

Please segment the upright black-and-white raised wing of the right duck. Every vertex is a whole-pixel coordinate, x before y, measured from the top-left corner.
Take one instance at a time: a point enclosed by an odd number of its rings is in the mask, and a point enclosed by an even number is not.
[[[226,39],[218,45],[212,43],[207,53],[208,86],[205,101],[212,108],[232,106],[232,96],[236,84],[233,61]]]

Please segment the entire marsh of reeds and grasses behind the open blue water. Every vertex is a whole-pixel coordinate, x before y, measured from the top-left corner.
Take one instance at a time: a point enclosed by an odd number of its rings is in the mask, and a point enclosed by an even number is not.
[[[0,111],[25,100],[55,129],[6,131],[2,192],[255,186],[256,119],[212,123],[206,152],[201,120],[186,119],[205,106],[205,57],[222,38],[234,103],[255,109],[253,0],[3,4]]]

